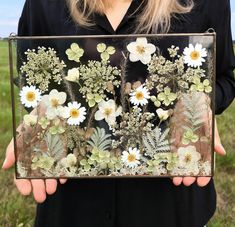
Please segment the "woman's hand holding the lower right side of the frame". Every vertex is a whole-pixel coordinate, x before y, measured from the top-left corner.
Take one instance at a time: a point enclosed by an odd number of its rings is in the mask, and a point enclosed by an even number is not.
[[[215,120],[215,152],[221,156],[226,155],[226,151],[221,144],[216,120]],[[182,183],[185,186],[190,186],[194,182],[197,182],[198,186],[204,187],[210,182],[210,180],[211,180],[211,177],[197,177],[197,178],[196,177],[174,177],[173,183],[176,186],[179,186]]]

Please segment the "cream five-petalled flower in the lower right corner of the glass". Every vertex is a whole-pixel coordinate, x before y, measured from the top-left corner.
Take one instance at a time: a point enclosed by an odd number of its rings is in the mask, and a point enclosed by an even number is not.
[[[185,168],[195,168],[201,159],[201,154],[197,152],[195,146],[180,147],[177,151],[179,165]]]

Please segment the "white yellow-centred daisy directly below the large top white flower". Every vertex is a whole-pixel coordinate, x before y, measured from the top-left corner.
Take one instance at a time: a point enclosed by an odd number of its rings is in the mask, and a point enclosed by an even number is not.
[[[150,99],[149,91],[146,87],[140,86],[135,91],[130,93],[130,101],[132,104],[138,106],[144,106],[148,103],[148,99]]]

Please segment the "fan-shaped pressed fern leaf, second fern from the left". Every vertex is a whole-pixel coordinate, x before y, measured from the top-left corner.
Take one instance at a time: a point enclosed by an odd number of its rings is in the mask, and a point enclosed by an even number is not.
[[[111,135],[106,134],[105,130],[103,128],[97,127],[90,140],[87,141],[89,145],[91,145],[93,148],[96,148],[98,150],[108,150],[111,146],[112,140]]]

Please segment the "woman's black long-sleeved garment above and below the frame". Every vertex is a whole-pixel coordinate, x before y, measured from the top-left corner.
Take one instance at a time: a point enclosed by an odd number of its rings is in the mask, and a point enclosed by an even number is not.
[[[82,28],[69,16],[65,0],[27,0],[18,34],[99,35],[132,33],[141,3],[133,0],[114,31],[105,16],[93,15],[96,26]],[[172,20],[170,32],[217,32],[216,113],[235,96],[235,68],[229,0],[195,0],[190,14]],[[203,188],[173,185],[164,179],[79,179],[58,185],[37,206],[36,227],[202,227],[216,209],[213,180]]]

